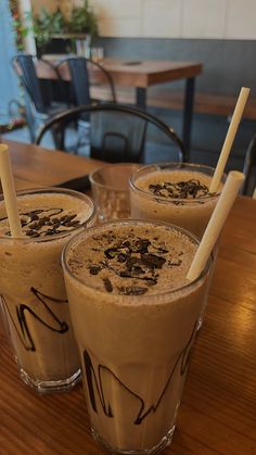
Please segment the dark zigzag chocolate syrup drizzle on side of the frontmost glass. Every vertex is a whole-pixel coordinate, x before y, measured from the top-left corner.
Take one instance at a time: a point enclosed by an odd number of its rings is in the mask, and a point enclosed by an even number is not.
[[[130,390],[124,382],[120,381],[120,379],[105,365],[101,365],[99,364],[97,367],[97,371],[98,371],[98,377],[99,377],[99,381],[97,379],[97,374],[94,370],[94,367],[92,365],[92,361],[90,357],[90,354],[87,350],[84,351],[84,362],[85,362],[85,371],[86,371],[86,379],[87,379],[87,386],[88,386],[88,392],[89,392],[89,399],[90,399],[90,405],[92,407],[92,409],[94,410],[94,413],[98,414],[98,408],[97,408],[97,401],[95,401],[95,394],[98,395],[99,400],[100,400],[100,404],[101,407],[103,409],[103,413],[105,414],[106,417],[112,417],[114,418],[114,414],[112,410],[112,405],[111,403],[106,404],[106,396],[104,393],[104,371],[107,371],[111,377],[114,379],[114,381],[116,382],[116,384],[118,384],[120,388],[125,389],[127,391],[127,393],[129,393],[130,395],[132,395],[132,397],[137,399],[138,404],[140,406],[139,413],[137,414],[137,416],[135,417],[133,420],[133,425],[141,425],[141,422],[146,418],[146,416],[151,413],[155,413],[157,407],[161,405],[161,402],[168,389],[168,387],[171,384],[171,379],[175,375],[175,372],[177,371],[177,369],[179,368],[180,371],[180,376],[182,377],[187,370],[188,364],[189,364],[189,357],[190,357],[190,353],[191,353],[191,349],[197,332],[197,320],[194,324],[192,333],[185,344],[185,346],[183,347],[183,350],[180,352],[172,369],[170,370],[169,377],[167,382],[164,384],[163,391],[159,394],[159,397],[157,399],[156,403],[153,403],[152,405],[150,405],[148,407],[148,409],[145,409],[145,402],[144,400],[138,395],[137,393],[135,393],[132,390]]]

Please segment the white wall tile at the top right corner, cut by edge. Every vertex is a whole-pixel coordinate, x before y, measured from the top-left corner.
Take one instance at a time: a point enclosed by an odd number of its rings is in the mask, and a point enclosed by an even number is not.
[[[225,37],[256,39],[256,0],[227,0]]]

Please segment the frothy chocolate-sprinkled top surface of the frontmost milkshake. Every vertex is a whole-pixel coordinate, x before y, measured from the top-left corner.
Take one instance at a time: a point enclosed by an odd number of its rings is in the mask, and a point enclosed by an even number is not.
[[[185,283],[196,247],[187,236],[149,226],[106,230],[69,253],[68,265],[87,286],[110,293],[157,294]]]

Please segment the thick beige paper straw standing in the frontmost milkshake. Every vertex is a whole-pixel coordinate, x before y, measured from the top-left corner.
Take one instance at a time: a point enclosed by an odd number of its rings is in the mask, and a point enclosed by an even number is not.
[[[187,275],[190,281],[195,280],[203,271],[243,181],[243,173],[238,170],[231,170],[229,173]]]

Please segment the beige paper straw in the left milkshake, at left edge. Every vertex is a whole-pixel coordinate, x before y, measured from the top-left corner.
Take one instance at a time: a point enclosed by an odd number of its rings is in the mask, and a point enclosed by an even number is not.
[[[8,146],[0,143],[0,177],[13,238],[23,237]]]

